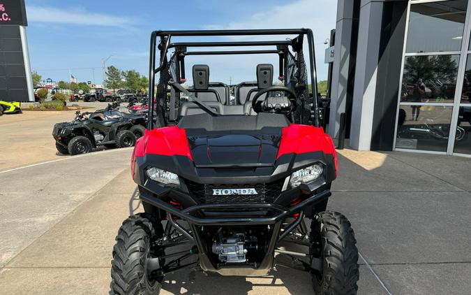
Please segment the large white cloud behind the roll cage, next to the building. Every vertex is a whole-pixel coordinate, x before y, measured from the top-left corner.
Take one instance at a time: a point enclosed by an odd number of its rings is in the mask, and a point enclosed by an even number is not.
[[[298,0],[281,6],[267,7],[264,12],[234,16],[235,20],[229,20],[226,25],[207,24],[204,29],[285,29],[301,27],[312,29],[316,50],[317,80],[326,80],[327,64],[324,64],[324,50],[327,45],[324,45],[324,41],[330,37],[331,29],[335,29],[336,5],[337,1],[334,0]],[[253,40],[257,38],[260,39],[260,36],[244,39]],[[267,36],[265,39],[271,38],[275,37]],[[306,56],[308,50],[306,42],[304,44],[304,54]],[[275,58],[271,58],[271,60],[274,61],[274,64],[277,64]],[[218,69],[220,62],[223,61],[218,57],[214,57],[212,64],[216,66],[216,69],[213,72],[225,72],[227,76],[232,75],[232,78],[235,78],[237,82],[239,82],[238,80],[255,80],[254,65],[259,63],[257,57],[244,56],[238,58],[234,68],[231,68],[231,73],[227,73],[227,68],[225,70],[222,67]],[[243,70],[247,66],[253,67],[253,69]],[[227,80],[227,78],[224,80]]]

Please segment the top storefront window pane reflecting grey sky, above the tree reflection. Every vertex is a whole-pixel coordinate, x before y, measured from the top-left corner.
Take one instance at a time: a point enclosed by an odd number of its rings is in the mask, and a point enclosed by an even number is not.
[[[460,51],[468,0],[410,6],[405,52]]]

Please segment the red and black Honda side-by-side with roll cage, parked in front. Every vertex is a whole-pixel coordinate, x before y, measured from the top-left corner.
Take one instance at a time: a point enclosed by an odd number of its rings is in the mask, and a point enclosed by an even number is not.
[[[279,62],[234,89],[203,63],[257,54]],[[203,62],[187,89],[190,56]],[[313,294],[356,294],[356,240],[327,210],[337,157],[320,126],[311,29],[154,31],[149,124],[131,159],[144,213],[118,231],[112,294],[159,294],[166,275],[195,264],[228,276],[289,265],[311,273]]]

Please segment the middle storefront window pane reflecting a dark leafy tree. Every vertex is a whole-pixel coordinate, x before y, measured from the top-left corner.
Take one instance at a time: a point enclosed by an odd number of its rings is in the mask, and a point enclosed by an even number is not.
[[[419,55],[404,59],[401,102],[453,103],[459,55]]]

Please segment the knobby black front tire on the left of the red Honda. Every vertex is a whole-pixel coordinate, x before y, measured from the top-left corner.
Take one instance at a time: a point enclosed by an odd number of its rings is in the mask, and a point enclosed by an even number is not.
[[[146,259],[153,238],[163,235],[160,221],[140,213],[128,217],[119,228],[113,247],[112,294],[159,294],[160,280],[149,278]]]

